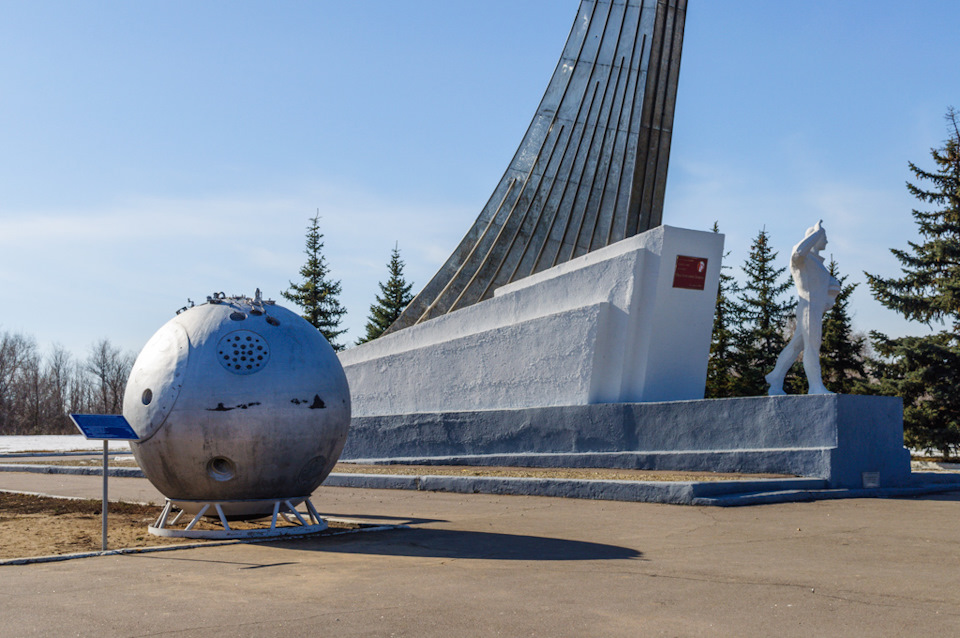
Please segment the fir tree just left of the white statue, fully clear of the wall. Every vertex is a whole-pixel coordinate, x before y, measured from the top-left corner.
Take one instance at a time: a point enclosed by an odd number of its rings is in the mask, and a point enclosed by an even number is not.
[[[750,255],[743,265],[746,282],[740,288],[740,326],[735,336],[736,396],[766,394],[768,384],[763,377],[773,370],[777,356],[786,345],[784,330],[796,303],[792,297],[781,301],[793,282],[782,279],[787,268],[775,267],[776,259],[770,236],[763,229],[751,244]]]

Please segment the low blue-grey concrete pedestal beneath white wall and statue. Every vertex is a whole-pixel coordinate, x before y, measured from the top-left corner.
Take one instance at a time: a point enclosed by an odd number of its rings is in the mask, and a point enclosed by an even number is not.
[[[341,459],[772,472],[836,488],[910,478],[900,399],[850,395],[355,417]]]

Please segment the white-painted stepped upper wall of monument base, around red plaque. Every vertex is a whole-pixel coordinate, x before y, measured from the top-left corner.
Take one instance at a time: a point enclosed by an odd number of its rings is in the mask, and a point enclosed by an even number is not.
[[[353,414],[702,399],[722,254],[660,226],[341,352]],[[704,290],[673,287],[678,255]]]

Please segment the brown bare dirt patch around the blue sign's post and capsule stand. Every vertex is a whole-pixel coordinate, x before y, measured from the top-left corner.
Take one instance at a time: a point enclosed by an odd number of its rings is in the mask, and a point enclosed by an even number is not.
[[[0,560],[99,552],[102,541],[101,501],[61,499],[0,492]],[[201,543],[194,538],[154,536],[147,526],[160,507],[111,502],[107,516],[109,549]],[[359,527],[328,521],[330,531]],[[234,529],[268,527],[267,521],[231,522]],[[202,521],[196,529],[221,529]],[[322,532],[321,532],[322,533]]]

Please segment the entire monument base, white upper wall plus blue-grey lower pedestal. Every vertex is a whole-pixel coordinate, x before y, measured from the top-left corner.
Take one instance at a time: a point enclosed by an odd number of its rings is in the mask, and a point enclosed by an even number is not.
[[[661,226],[340,353],[341,459],[906,482],[899,399],[703,400],[722,251]]]

